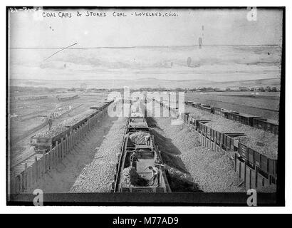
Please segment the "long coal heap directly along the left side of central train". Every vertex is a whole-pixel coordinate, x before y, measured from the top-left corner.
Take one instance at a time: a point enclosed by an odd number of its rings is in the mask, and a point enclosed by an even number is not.
[[[118,118],[69,192],[110,192],[115,175],[116,153],[120,152],[126,118]]]

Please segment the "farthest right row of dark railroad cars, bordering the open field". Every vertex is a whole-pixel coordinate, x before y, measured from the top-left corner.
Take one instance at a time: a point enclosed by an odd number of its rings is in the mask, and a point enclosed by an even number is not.
[[[275,135],[278,135],[278,123],[276,123],[276,121],[267,120],[265,118],[261,118],[256,115],[239,113],[239,112],[236,112],[233,110],[227,110],[224,108],[211,107],[210,105],[192,102],[192,101],[185,101],[185,104],[192,105],[194,108],[199,108],[209,113],[221,115],[222,117],[227,118],[229,120],[234,120],[236,122],[243,123],[254,128],[265,130],[268,133],[273,133]]]

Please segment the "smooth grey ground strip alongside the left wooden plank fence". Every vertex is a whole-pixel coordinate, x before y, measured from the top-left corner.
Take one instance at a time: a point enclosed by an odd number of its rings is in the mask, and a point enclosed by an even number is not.
[[[84,167],[92,162],[98,147],[102,144],[105,135],[115,123],[116,118],[107,118],[103,120],[100,127],[95,128],[90,134],[81,140],[77,146],[66,155],[56,169],[46,172],[43,179],[33,188],[39,188],[45,193],[65,193],[68,192],[75,180],[79,177]]]

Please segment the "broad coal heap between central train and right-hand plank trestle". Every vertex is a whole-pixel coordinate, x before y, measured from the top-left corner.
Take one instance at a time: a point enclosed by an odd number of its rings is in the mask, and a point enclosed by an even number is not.
[[[199,190],[204,192],[244,192],[244,187],[237,187],[240,180],[227,155],[200,146],[197,135],[187,125],[171,125],[171,118],[155,118],[155,121],[157,128],[153,130],[171,140],[176,148],[172,158],[181,160],[184,166],[178,170],[172,162],[162,157],[172,167],[167,169],[170,175],[175,172],[176,176],[184,176],[184,179],[197,184]],[[160,150],[163,155],[164,148],[160,147]],[[167,154],[171,153],[169,150]]]

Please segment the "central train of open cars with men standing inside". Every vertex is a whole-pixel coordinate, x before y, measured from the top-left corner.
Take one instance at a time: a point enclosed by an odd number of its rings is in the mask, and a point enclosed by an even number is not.
[[[130,108],[130,118],[115,175],[114,192],[171,192],[160,151],[155,146],[155,138],[150,133],[140,106],[140,102],[133,102]],[[135,165],[130,162],[133,152],[138,159]],[[159,170],[154,183],[151,180],[152,172],[147,169],[149,166]]]

